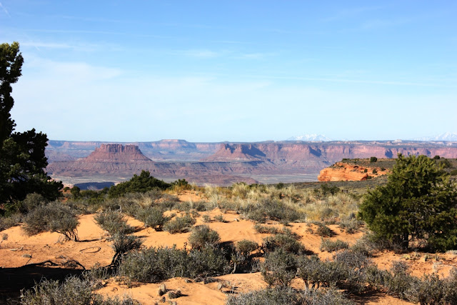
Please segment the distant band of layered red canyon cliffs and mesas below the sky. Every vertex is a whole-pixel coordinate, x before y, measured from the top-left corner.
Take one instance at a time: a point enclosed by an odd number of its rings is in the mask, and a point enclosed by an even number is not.
[[[84,142],[54,142],[50,141],[52,154],[56,154],[59,147],[64,146],[65,149],[62,150],[62,154],[67,160],[72,149],[81,151],[82,148],[86,149],[96,144],[96,142],[91,142],[84,146]],[[160,158],[151,160],[147,155],[142,154],[144,149],[153,151],[154,156],[160,156]],[[211,151],[214,151],[214,154],[211,154]],[[141,145],[100,144],[86,158],[75,161],[50,162],[47,171],[51,176],[81,177],[103,174],[105,176],[131,177],[144,169],[161,179],[190,179],[191,177],[196,183],[210,181],[211,176],[214,179],[218,176],[219,181],[230,179],[232,179],[231,181],[243,181],[243,179],[247,181],[246,179],[250,177],[263,179],[265,176],[278,176],[278,181],[281,181],[280,176],[285,175],[289,177],[288,181],[291,181],[295,175],[301,174],[315,175],[317,179],[321,169],[325,169],[342,159],[363,159],[371,156],[376,156],[378,159],[391,159],[395,158],[398,153],[457,158],[457,143],[285,141],[196,144],[184,140],[163,140],[143,142]],[[196,161],[194,159],[197,156],[204,156],[204,158]],[[358,170],[355,168],[348,169],[346,174],[341,174],[340,179],[363,179],[364,175],[359,177],[357,172]],[[224,179],[221,175],[224,175]],[[324,178],[325,176],[336,176],[336,174],[321,174],[323,181],[332,179]],[[226,179],[227,177],[229,179]]]

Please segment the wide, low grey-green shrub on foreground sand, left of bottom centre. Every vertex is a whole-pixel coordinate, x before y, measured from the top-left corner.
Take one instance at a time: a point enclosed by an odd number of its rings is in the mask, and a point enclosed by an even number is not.
[[[218,247],[203,249],[149,248],[124,256],[119,275],[146,283],[173,277],[206,277],[226,274],[230,270],[225,253]]]

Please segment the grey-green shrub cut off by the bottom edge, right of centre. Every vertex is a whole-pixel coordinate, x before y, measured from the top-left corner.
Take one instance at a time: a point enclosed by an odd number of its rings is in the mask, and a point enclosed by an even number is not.
[[[353,301],[346,299],[336,289],[296,290],[291,287],[270,287],[263,290],[251,291],[238,296],[229,296],[228,305],[352,305]]]

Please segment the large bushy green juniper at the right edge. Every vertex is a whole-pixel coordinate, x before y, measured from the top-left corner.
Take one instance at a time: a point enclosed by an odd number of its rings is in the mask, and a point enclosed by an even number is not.
[[[457,246],[457,191],[426,156],[398,155],[385,186],[368,191],[359,216],[389,241],[425,239],[433,249]]]

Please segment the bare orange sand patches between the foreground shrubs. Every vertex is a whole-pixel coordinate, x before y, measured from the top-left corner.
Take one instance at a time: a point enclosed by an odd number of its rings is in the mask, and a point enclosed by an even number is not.
[[[199,201],[199,196],[194,194],[184,194],[180,196],[184,201]],[[221,241],[240,241],[248,239],[261,244],[263,238],[269,234],[258,234],[253,229],[254,223],[246,221],[231,211],[222,213],[219,209],[211,212],[201,212],[197,224],[204,224],[202,216],[209,214],[211,218],[217,215],[224,216],[224,222],[212,221],[208,225],[211,229],[218,231]],[[129,224],[137,227],[137,236],[144,239],[144,246],[173,246],[179,248],[186,246],[190,233],[169,234],[168,232],[156,232],[153,229],[144,228],[144,224],[136,219],[128,218]],[[271,223],[271,226],[281,227],[279,224]],[[362,233],[346,234],[338,226],[329,226],[335,233],[331,239],[341,239],[353,244],[360,239]],[[311,234],[309,229],[315,229],[313,225],[308,224],[291,224],[289,229],[301,236],[301,243],[307,250],[313,251],[321,259],[331,259],[332,254],[326,251],[320,251],[321,237]],[[0,284],[4,289],[11,285],[11,279],[14,276],[40,276],[49,271],[59,271],[63,275],[69,270],[81,270],[82,267],[90,269],[96,263],[102,266],[111,263],[114,251],[111,249],[111,242],[106,240],[106,232],[102,230],[94,221],[94,214],[79,216],[78,235],[79,241],[61,242],[61,235],[57,233],[42,233],[36,236],[26,236],[20,226],[15,226],[0,234],[7,234],[8,239],[0,244],[0,271],[2,279]],[[187,245],[189,248],[189,245]],[[390,251],[377,254],[373,261],[381,269],[389,269],[393,261],[406,261],[410,270],[415,276],[431,274],[437,272],[441,276],[447,276],[452,267],[457,267],[457,256],[453,254],[394,254]],[[46,264],[40,264],[48,261]],[[76,264],[77,262],[77,264]],[[21,267],[21,268],[19,268]],[[54,268],[54,269],[53,269]],[[52,272],[51,272],[52,273]],[[24,275],[21,275],[24,274]],[[35,277],[36,278],[36,277]],[[35,279],[34,278],[34,279]],[[39,278],[38,278],[39,279]],[[233,293],[253,291],[266,287],[261,274],[227,274],[218,276],[216,281],[209,284],[203,282],[194,282],[189,279],[169,279],[165,281],[166,288],[169,290],[180,289],[183,296],[174,299],[178,304],[224,304],[226,297]],[[17,280],[17,279],[16,279]],[[19,281],[19,280],[17,280]],[[32,281],[33,284],[33,281]],[[18,285],[30,285],[30,283],[17,283]],[[99,290],[100,294],[109,296],[122,296],[128,294],[137,299],[141,304],[155,304],[161,301],[158,289],[160,284],[141,284],[139,286],[126,286],[124,284],[110,279],[106,285]],[[22,286],[22,287],[23,287]],[[293,286],[303,287],[303,282],[296,279]],[[16,287],[17,288],[17,287]],[[1,291],[0,291],[1,293]],[[165,295],[166,301],[169,296]],[[381,293],[367,294],[366,296],[354,296],[358,304],[408,304],[408,302],[394,299]],[[1,299],[0,299],[1,303]]]

